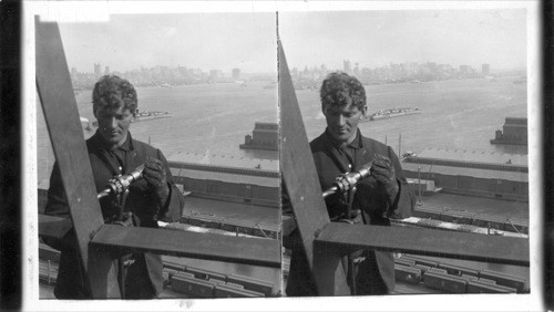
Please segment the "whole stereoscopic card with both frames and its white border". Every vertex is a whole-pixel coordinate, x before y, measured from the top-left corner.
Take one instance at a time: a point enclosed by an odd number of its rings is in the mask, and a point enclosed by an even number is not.
[[[536,3],[147,3],[28,11],[30,308],[538,306]]]

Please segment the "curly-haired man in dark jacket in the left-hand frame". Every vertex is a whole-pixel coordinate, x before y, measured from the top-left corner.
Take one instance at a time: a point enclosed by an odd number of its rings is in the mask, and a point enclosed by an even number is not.
[[[94,85],[93,113],[98,119],[96,133],[86,141],[96,191],[106,187],[114,176],[125,175],[144,165],[143,179],[133,183],[129,194],[104,197],[100,200],[104,221],[123,226],[157,228],[157,220],[179,219],[184,198],[173,183],[167,162],[160,149],[131,137],[129,128],[137,107],[133,85],[116,75],[106,75]],[[45,212],[69,216],[61,173],[57,164],[50,177]],[[61,250],[54,294],[58,299],[89,299],[80,263],[74,230],[60,242],[49,242]],[[117,254],[117,257],[121,254]],[[163,263],[160,254],[133,253],[125,256],[127,299],[156,298],[163,290]]]

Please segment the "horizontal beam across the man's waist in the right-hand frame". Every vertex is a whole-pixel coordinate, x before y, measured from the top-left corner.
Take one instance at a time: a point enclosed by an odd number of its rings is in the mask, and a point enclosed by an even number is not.
[[[530,266],[529,240],[515,237],[330,223],[317,238],[316,245],[322,249],[342,248],[343,254],[348,251],[371,248],[489,263]]]

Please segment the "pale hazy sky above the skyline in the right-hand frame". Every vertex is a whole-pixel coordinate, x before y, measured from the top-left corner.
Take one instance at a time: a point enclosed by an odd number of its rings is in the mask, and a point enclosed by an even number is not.
[[[511,69],[526,62],[523,9],[280,12],[279,34],[291,67],[341,69],[342,60],[360,67],[430,61]]]

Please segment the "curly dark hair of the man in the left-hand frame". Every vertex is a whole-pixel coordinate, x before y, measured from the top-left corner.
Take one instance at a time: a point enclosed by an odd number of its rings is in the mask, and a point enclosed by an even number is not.
[[[94,85],[92,104],[94,111],[101,107],[107,110],[123,107],[134,114],[138,100],[134,86],[127,80],[117,75],[105,75]]]

